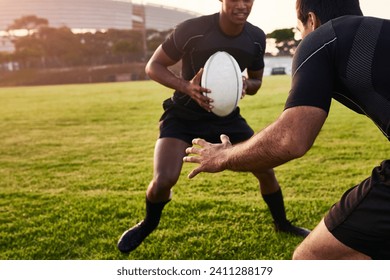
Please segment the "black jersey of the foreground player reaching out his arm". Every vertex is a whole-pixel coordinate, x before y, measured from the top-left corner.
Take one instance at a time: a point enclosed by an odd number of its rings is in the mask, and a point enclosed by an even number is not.
[[[329,111],[334,98],[371,118],[390,140],[390,21],[344,16],[320,26],[294,56],[285,108]]]

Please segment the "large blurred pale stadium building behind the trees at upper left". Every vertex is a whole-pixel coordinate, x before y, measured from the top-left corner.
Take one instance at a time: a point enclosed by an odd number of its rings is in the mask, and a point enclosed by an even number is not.
[[[169,30],[199,14],[131,0],[1,0],[0,35],[15,19],[36,15],[51,27],[66,26],[74,32],[122,30]],[[12,51],[12,44],[0,37],[0,51]]]

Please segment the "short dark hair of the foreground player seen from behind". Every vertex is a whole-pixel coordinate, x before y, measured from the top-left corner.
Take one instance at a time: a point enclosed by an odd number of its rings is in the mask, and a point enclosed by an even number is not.
[[[296,9],[303,24],[306,24],[310,12],[318,17],[321,24],[345,15],[363,15],[359,0],[297,0]]]

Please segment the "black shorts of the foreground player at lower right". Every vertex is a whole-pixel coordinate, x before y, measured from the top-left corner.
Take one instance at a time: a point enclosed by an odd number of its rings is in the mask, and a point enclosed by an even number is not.
[[[324,221],[348,247],[372,259],[390,260],[390,160],[345,192]]]

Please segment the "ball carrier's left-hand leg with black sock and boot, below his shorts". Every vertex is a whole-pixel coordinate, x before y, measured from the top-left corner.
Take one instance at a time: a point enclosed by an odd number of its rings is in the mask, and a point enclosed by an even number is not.
[[[146,191],[145,218],[125,231],[118,242],[118,249],[129,253],[157,228],[164,206],[170,201],[171,188],[176,184],[188,143],[175,138],[160,138],[154,150],[153,179]]]

